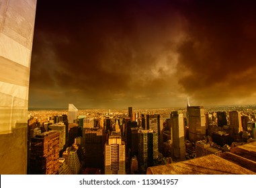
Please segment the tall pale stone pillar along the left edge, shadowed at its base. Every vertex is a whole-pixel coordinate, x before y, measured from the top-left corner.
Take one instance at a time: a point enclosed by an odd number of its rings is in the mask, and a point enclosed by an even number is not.
[[[0,174],[27,173],[28,88],[36,0],[0,0]]]

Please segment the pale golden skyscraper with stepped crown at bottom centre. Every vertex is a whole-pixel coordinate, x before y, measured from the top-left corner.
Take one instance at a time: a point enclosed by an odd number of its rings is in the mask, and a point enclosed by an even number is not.
[[[112,132],[108,143],[105,143],[105,175],[126,174],[125,144],[120,132]]]

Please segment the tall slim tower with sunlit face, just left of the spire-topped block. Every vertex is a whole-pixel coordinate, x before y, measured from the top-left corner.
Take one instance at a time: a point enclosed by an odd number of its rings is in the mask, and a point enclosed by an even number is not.
[[[184,121],[182,111],[171,112],[172,158],[185,160]]]

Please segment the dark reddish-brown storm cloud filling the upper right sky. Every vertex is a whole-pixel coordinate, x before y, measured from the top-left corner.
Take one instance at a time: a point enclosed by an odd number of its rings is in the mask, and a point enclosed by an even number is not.
[[[184,91],[211,104],[254,95],[255,2],[191,1],[184,7],[187,38],[178,48],[177,66]]]

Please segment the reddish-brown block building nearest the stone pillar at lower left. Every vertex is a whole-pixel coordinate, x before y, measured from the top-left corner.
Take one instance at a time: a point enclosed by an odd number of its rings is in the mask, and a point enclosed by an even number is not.
[[[49,131],[31,139],[30,174],[58,173],[59,132]]]

